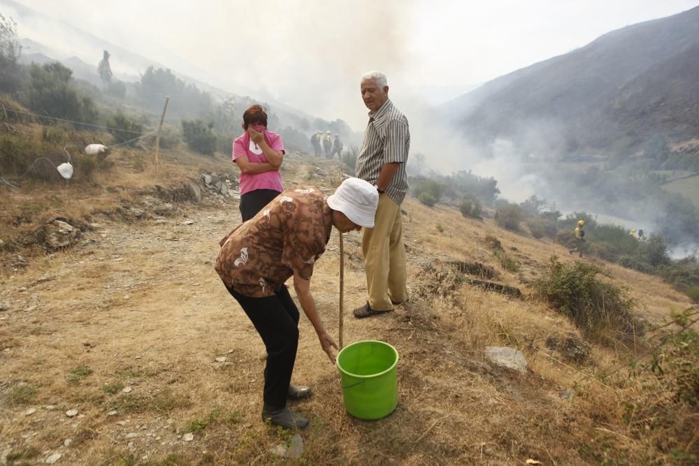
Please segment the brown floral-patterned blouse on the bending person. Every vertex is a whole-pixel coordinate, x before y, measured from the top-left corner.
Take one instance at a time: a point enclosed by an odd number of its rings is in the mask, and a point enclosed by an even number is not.
[[[331,220],[331,209],[318,188],[284,191],[224,236],[216,272],[243,296],[273,296],[294,272],[310,279],[313,264],[330,240]]]

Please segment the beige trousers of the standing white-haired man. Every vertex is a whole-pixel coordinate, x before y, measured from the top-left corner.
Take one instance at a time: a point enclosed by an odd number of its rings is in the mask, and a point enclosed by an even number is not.
[[[393,309],[391,300],[396,303],[407,300],[401,206],[387,194],[379,196],[374,228],[363,228],[361,249],[369,306],[386,311]]]

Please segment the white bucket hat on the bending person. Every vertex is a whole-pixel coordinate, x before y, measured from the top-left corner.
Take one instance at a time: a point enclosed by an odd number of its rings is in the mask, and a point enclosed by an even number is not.
[[[379,204],[379,193],[371,183],[359,178],[347,178],[328,196],[328,205],[339,210],[359,226],[374,227],[374,215]]]

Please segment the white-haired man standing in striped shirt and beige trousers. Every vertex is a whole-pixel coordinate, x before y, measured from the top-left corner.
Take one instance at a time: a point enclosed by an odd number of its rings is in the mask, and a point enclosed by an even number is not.
[[[354,310],[358,319],[393,310],[408,300],[401,203],[408,192],[405,163],[410,150],[408,119],[389,99],[386,76],[361,77],[369,122],[356,159],[356,176],[374,184],[379,205],[373,228],[363,228],[362,250],[369,298]]]

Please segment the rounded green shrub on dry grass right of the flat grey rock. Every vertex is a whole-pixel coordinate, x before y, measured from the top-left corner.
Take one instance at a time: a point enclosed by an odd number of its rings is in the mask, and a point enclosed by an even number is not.
[[[643,327],[631,314],[635,300],[626,289],[598,278],[601,272],[589,263],[566,264],[552,256],[535,289],[589,337],[612,343],[641,335]]]

